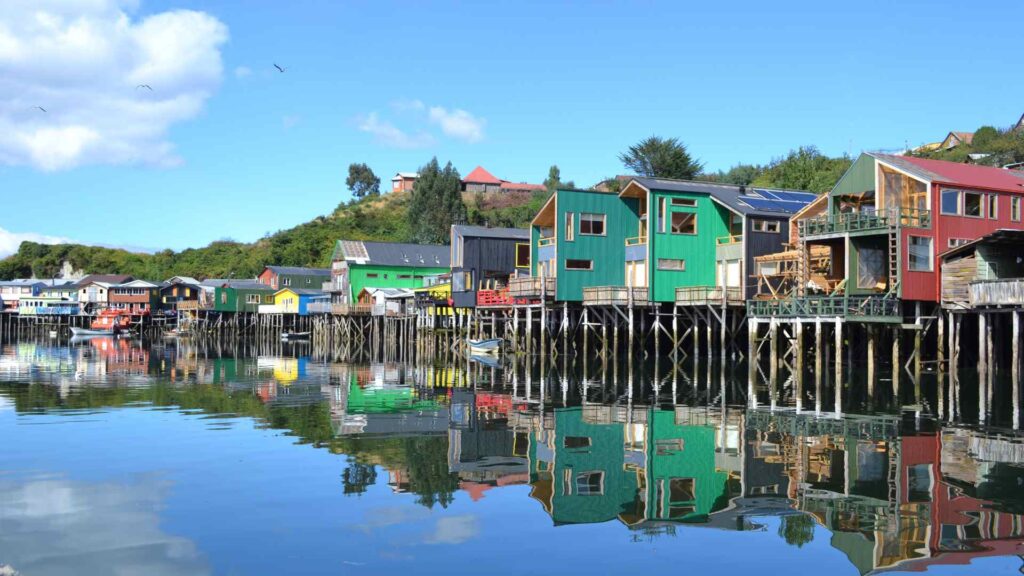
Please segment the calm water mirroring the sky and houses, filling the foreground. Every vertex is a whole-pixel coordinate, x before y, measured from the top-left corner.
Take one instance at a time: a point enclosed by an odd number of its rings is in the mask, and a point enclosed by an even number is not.
[[[744,408],[737,366],[304,352],[0,345],[0,574],[1024,565],[1024,438],[969,410],[930,417],[934,385],[898,400],[851,386],[843,415],[825,412],[833,395],[815,416],[791,384],[775,410],[764,390]]]

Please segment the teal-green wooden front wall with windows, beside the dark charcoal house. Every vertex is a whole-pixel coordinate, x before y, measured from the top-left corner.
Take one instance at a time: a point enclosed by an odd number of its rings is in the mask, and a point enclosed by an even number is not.
[[[640,216],[635,199],[594,191],[558,191],[555,231],[558,243],[558,285],[555,298],[582,301],[587,286],[622,286],[626,283],[626,239],[636,236]],[[565,240],[565,213],[572,212],[574,240]],[[604,236],[580,234],[580,214],[605,214]],[[536,244],[536,242],[535,242]],[[593,262],[593,270],[566,270],[565,260]]]

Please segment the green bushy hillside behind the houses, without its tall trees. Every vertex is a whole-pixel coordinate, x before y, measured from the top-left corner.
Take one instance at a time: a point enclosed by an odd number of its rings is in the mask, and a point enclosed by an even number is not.
[[[470,223],[518,228],[528,224],[545,198],[544,193],[466,194],[463,200]],[[75,271],[130,274],[151,280],[176,275],[252,278],[267,264],[327,266],[339,239],[408,242],[409,202],[409,193],[370,197],[342,204],[331,214],[256,242],[217,241],[180,252],[146,254],[80,244],[25,242],[16,253],[0,260],[0,280],[59,276],[66,262]]]

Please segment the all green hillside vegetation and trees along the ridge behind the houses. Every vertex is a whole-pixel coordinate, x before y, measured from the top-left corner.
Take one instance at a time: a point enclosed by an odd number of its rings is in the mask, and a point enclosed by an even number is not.
[[[975,138],[975,149],[982,142],[1002,142],[1008,137],[988,140],[984,133],[981,136],[981,142]],[[679,140],[655,136],[631,147],[621,158],[630,171],[645,175],[817,193],[829,190],[852,162],[847,156],[833,158],[814,147],[803,147],[764,166],[740,164],[727,171],[707,172]],[[343,202],[330,214],[255,242],[221,240],[203,248],[153,254],[25,242],[16,253],[0,260],[0,280],[58,276],[65,263],[83,273],[129,274],[151,280],[172,276],[252,278],[267,264],[327,266],[339,239],[443,242],[452,222],[526,227],[551,191],[574,186],[561,179],[557,166],[551,167],[544,180],[546,190],[534,193],[462,193],[458,190],[458,171],[451,164],[439,165],[436,159],[423,166],[420,173],[412,192],[381,194],[380,178],[365,164],[352,164],[346,182],[351,201]],[[617,180],[609,178],[602,183],[616,186]],[[422,217],[425,213],[431,216]]]

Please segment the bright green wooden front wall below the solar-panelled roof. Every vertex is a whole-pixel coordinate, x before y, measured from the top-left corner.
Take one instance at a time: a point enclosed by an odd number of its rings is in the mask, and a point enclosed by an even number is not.
[[[666,198],[665,232],[658,232],[657,207]],[[673,198],[696,200],[696,206],[673,206]],[[691,213],[697,216],[695,235],[672,234],[672,214]],[[711,286],[715,284],[716,239],[729,234],[731,212],[717,204],[707,194],[652,191],[648,202],[647,242],[650,257],[647,262],[650,298],[656,302],[676,301],[679,286]],[[657,270],[659,258],[683,259],[685,271]]]

